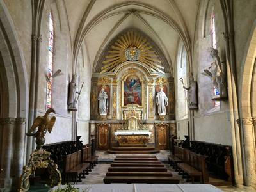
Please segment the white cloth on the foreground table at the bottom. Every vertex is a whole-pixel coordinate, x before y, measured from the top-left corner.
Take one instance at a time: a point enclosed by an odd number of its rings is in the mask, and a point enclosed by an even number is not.
[[[210,184],[94,184],[76,188],[86,192],[223,192]]]

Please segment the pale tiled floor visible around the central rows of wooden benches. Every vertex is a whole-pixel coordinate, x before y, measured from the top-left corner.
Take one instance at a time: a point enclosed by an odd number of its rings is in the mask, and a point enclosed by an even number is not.
[[[168,161],[168,151],[161,151],[158,154],[151,154],[152,156],[157,156],[157,158],[160,161]],[[110,166],[111,161],[115,159],[116,154],[107,154],[106,152],[97,151],[97,155],[99,156],[99,164],[95,168],[93,168],[92,172],[90,172],[89,175],[86,175],[86,179],[82,179],[81,184],[104,184],[103,179],[106,175],[106,172],[108,172],[108,168]],[[125,155],[125,154],[124,154]],[[131,154],[130,154],[131,155]],[[145,154],[141,154],[143,156]],[[134,156],[140,156],[138,154]],[[172,167],[170,167],[168,164],[165,164],[166,167],[173,173],[173,177],[177,177],[180,179],[180,183],[187,183],[186,180],[182,179],[180,175],[178,175],[177,172],[175,172]],[[248,188],[246,186],[217,186],[221,190],[225,192],[256,192],[253,188]]]

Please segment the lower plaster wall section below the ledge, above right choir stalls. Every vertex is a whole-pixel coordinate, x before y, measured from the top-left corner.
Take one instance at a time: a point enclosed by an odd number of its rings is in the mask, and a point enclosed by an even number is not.
[[[195,116],[195,140],[232,145],[230,113]]]

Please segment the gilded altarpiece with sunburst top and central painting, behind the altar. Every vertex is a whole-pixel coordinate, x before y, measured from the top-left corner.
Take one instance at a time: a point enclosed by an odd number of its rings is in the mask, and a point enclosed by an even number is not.
[[[133,111],[140,126],[147,127],[144,131],[150,132],[148,145],[166,150],[169,132],[176,133],[174,81],[169,63],[156,44],[135,29],[116,36],[107,47],[92,75],[90,127],[97,134],[98,148],[106,148],[107,141],[109,148],[117,145],[115,133],[127,129],[125,122]],[[161,120],[156,108],[159,86],[164,86],[168,97],[166,115]],[[99,115],[97,99],[102,87],[109,99],[105,118]],[[109,125],[108,136],[103,124]]]

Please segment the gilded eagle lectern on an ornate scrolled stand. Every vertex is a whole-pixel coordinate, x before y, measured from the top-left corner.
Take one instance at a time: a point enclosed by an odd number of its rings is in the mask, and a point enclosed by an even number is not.
[[[50,108],[46,111],[44,116],[36,117],[31,129],[26,133],[27,136],[36,138],[36,150],[30,154],[28,164],[23,167],[23,173],[20,176],[19,192],[29,190],[29,177],[31,173],[34,173],[36,169],[40,168],[48,168],[51,187],[61,184],[61,173],[58,170],[57,164],[51,159],[51,153],[42,148],[42,145],[45,143],[44,136],[47,131],[51,133],[56,120],[55,116],[51,118],[48,117],[51,112],[55,113],[54,109]],[[33,131],[35,131],[36,127],[38,127],[38,131],[34,133]]]

